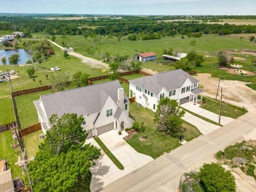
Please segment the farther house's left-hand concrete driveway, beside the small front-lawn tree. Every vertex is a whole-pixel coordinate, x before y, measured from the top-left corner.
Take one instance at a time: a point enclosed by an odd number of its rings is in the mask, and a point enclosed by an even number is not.
[[[182,119],[194,126],[197,127],[197,129],[202,133],[202,134],[208,134],[211,133],[214,130],[217,130],[220,128],[218,125],[214,125],[212,123],[206,122],[201,118],[198,118],[186,111],[185,116],[182,117]],[[186,138],[185,138],[186,139]]]

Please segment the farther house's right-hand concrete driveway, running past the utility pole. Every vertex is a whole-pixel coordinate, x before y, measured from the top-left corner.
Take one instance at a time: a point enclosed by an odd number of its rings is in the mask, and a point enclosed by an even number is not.
[[[201,115],[201,116],[203,116],[207,119],[211,119],[212,121],[214,121],[216,123],[219,123],[219,115],[217,115],[215,113],[212,113],[209,110],[201,108],[198,103],[196,105],[194,105],[191,102],[186,102],[186,103],[184,103],[180,106],[189,110],[189,111],[191,111],[191,112],[193,112],[193,113],[196,113],[196,114]],[[235,119],[230,118],[230,117],[221,116],[220,124],[221,125],[227,125],[228,123],[233,122],[234,120]]]

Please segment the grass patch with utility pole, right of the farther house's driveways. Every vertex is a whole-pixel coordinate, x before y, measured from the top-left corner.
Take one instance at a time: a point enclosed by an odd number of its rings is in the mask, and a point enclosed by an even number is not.
[[[213,113],[219,115],[219,108],[220,108],[219,101],[215,101],[210,98],[205,98],[205,103],[201,107],[203,109],[207,109],[207,110],[212,111]],[[222,116],[238,118],[239,116],[244,115],[245,113],[247,113],[246,109],[230,105],[226,102],[222,102],[222,107],[221,107],[221,115]]]

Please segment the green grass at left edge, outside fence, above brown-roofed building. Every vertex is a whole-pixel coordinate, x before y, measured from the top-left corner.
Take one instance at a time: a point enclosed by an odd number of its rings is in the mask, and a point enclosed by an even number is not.
[[[6,159],[8,167],[12,170],[13,178],[21,176],[21,167],[15,165],[18,161],[18,155],[15,156],[14,150],[10,147],[13,143],[12,133],[10,130],[0,133],[0,143],[0,159]]]

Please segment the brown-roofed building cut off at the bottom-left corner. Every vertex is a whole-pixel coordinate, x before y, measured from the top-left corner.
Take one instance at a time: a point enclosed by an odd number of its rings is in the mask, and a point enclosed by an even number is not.
[[[14,191],[12,172],[10,169],[7,170],[7,163],[5,160],[0,161],[0,191]]]

